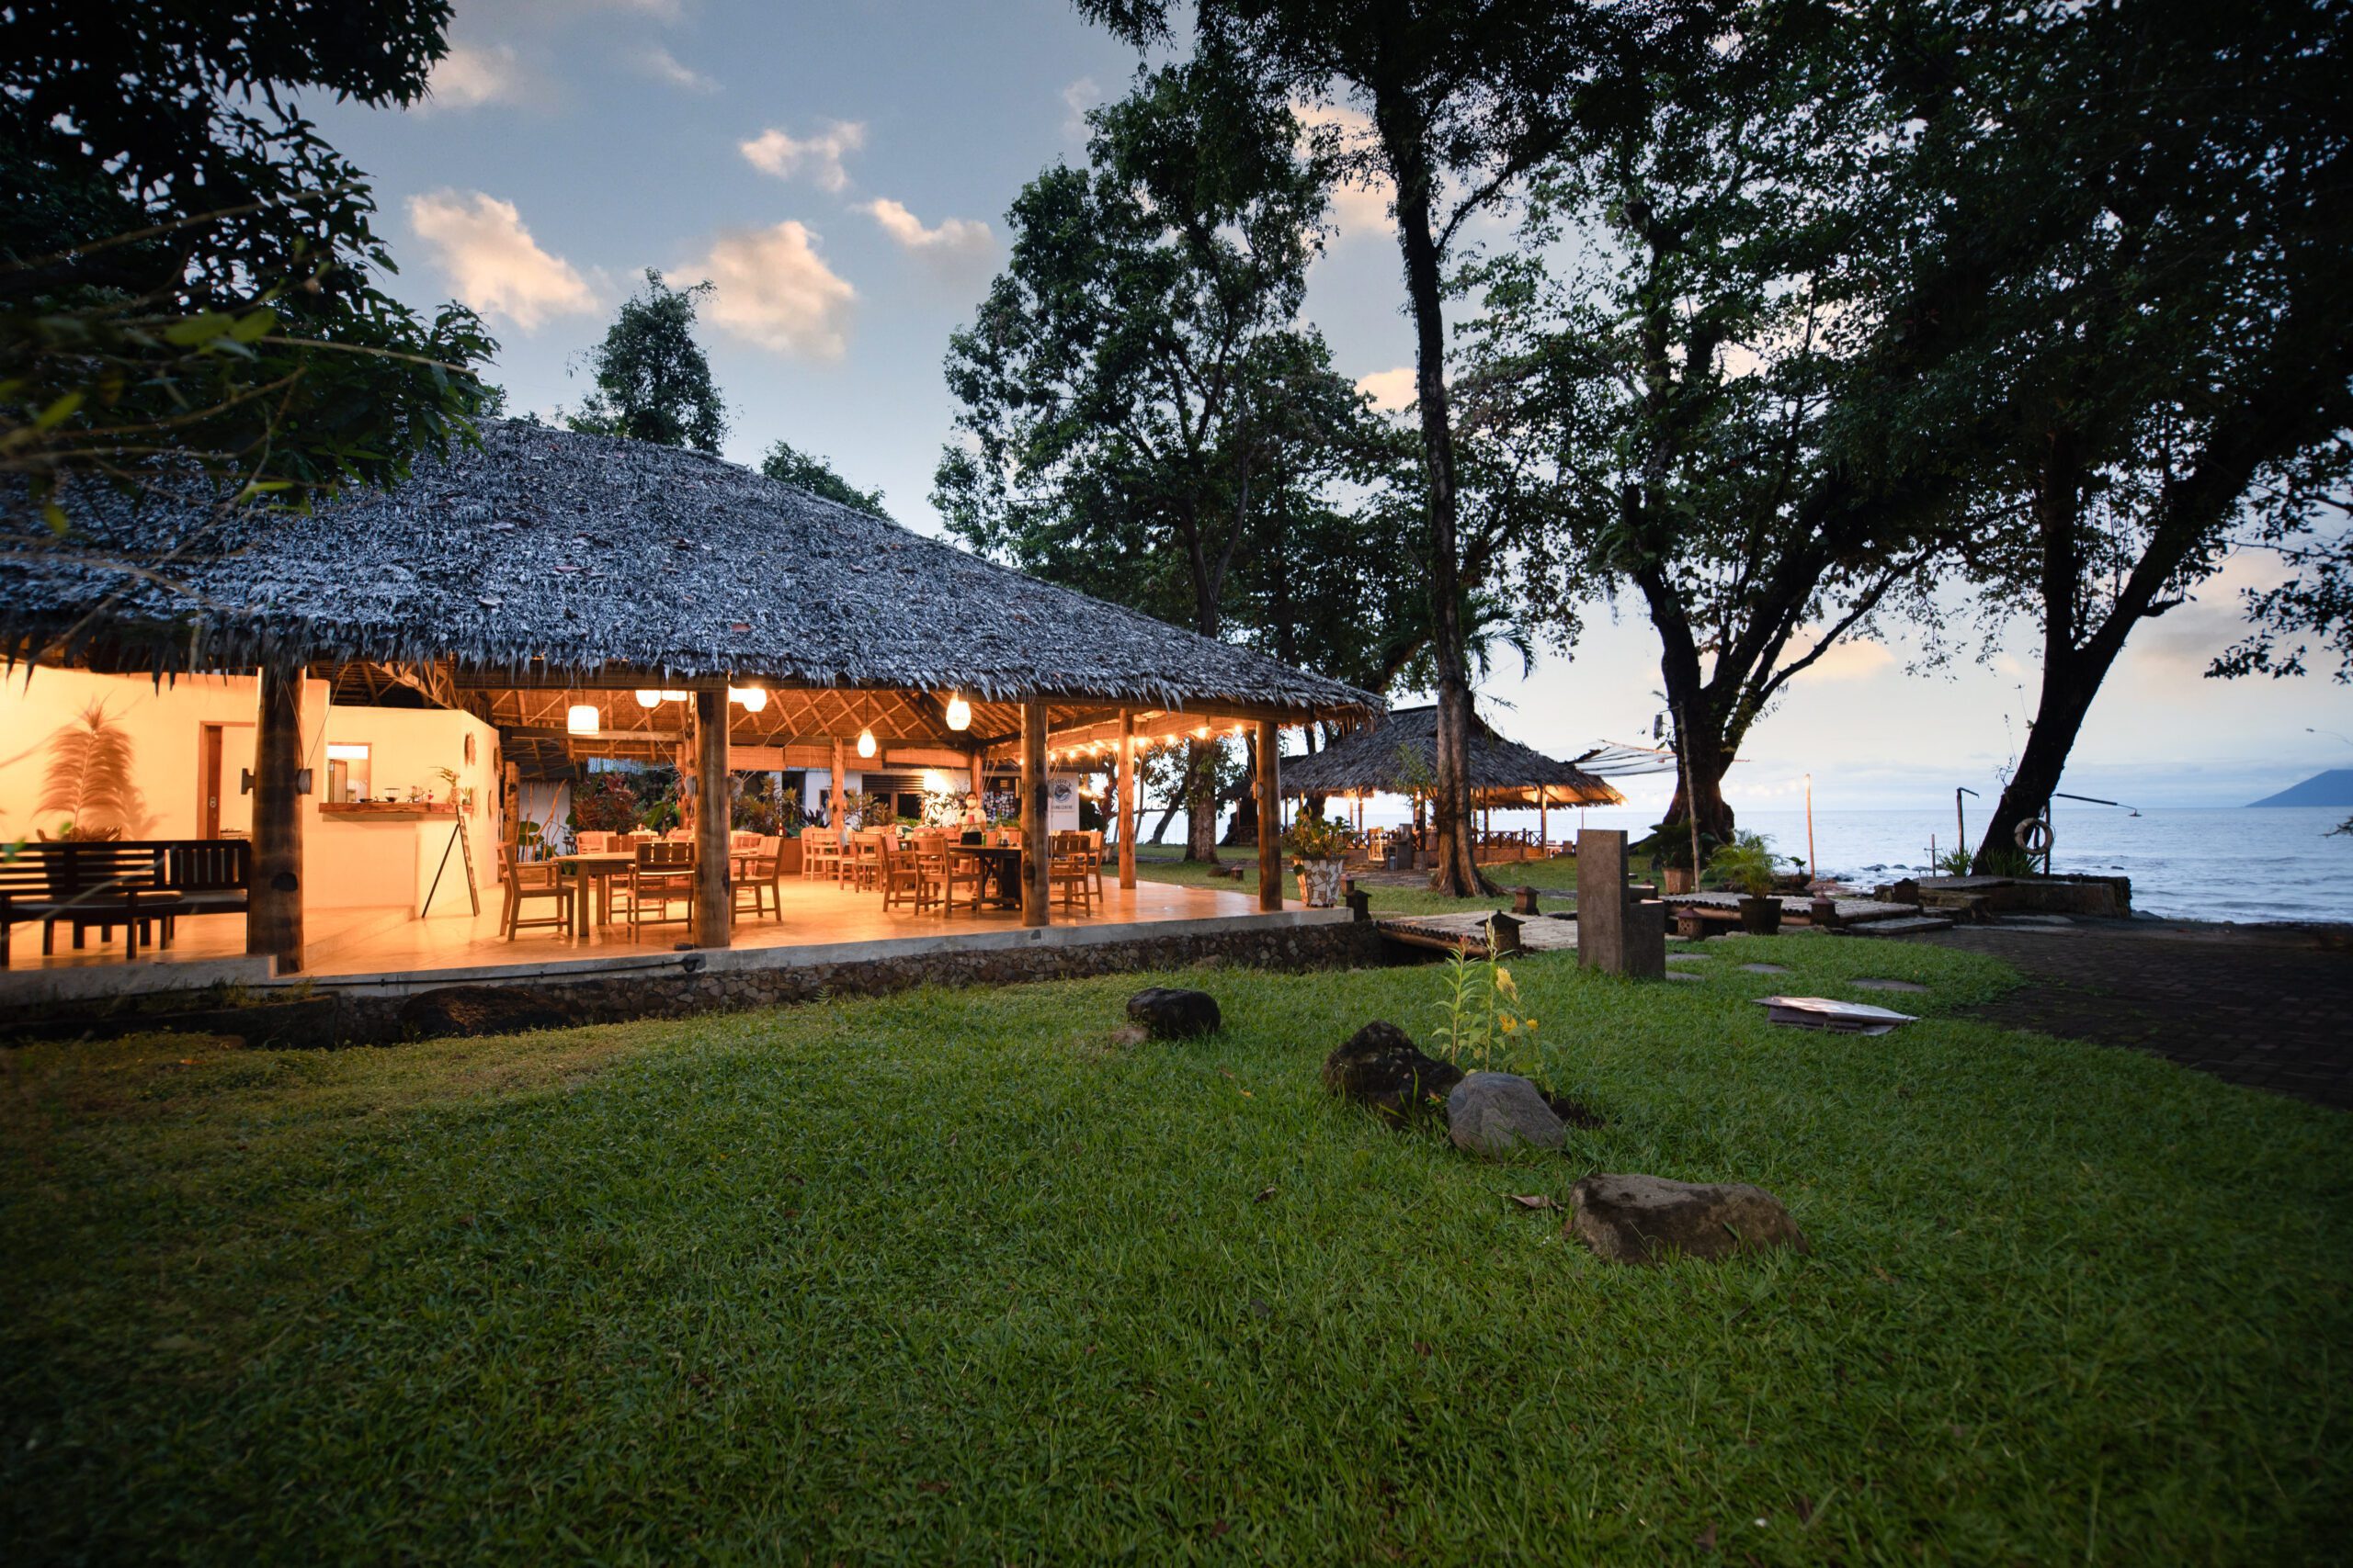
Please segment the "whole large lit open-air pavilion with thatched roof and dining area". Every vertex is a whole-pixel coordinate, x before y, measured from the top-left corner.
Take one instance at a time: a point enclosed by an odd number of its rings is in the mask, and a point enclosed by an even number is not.
[[[1278,731],[1379,710],[732,463],[536,423],[311,515],[75,501],[71,548],[0,550],[0,985],[1264,919]],[[1136,882],[1136,757],[1207,733],[1264,759],[1254,898]],[[1108,769],[1111,851],[1056,755]],[[560,832],[624,762],[675,766],[685,820]],[[744,773],[802,780],[776,832],[704,809]],[[861,783],[929,820],[866,823]]]

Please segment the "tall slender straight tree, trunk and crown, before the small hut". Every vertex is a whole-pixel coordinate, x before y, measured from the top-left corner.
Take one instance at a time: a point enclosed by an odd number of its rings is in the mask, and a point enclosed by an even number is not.
[[[1167,0],[1080,0],[1136,45],[1167,40]],[[1699,16],[1694,7],[1692,16]],[[1584,125],[1609,122],[1642,78],[1697,63],[1711,28],[1675,5],[1499,5],[1494,0],[1200,0],[1195,33],[1280,89],[1353,101],[1372,120],[1341,172],[1393,190],[1405,299],[1414,322],[1417,418],[1428,489],[1426,588],[1438,670],[1438,877],[1485,889],[1468,790],[1471,670],[1461,614],[1478,585],[1466,552],[1452,402],[1445,383],[1445,275],[1464,226]]]

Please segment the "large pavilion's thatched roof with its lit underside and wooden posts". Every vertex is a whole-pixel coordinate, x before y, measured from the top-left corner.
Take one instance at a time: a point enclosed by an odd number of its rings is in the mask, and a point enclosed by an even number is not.
[[[847,745],[1014,755],[1205,726],[1369,717],[1379,698],[991,564],[734,463],[489,421],[480,447],[315,515],[219,515],[209,496],[75,496],[73,548],[0,550],[0,654],[99,672],[261,670],[249,950],[301,964],[301,677],[464,708],[511,762],[692,759],[727,799],[729,750],[833,766]],[[129,562],[125,571],[120,562]],[[661,701],[664,696],[673,701]],[[645,703],[642,698],[656,698]],[[824,762],[819,762],[824,759]],[[1280,780],[1261,771],[1261,837]],[[835,818],[838,820],[838,818]],[[1045,790],[1026,790],[1045,842]],[[727,945],[727,816],[701,811],[696,940]],[[1134,886],[1132,832],[1120,882]],[[1024,922],[1047,922],[1031,856]],[[1280,856],[1261,844],[1261,905]]]

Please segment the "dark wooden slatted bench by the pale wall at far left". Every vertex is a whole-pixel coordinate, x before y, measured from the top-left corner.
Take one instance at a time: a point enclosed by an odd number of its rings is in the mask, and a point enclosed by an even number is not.
[[[254,879],[254,846],[245,839],[71,839],[24,844],[0,860],[0,964],[9,929],[40,922],[42,957],[56,952],[56,926],[99,929],[111,940],[125,931],[125,957],[162,929],[169,947],[184,914],[245,914]]]

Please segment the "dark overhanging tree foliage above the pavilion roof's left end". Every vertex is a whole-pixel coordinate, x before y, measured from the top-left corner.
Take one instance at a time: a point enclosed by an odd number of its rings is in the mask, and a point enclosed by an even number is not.
[[[0,12],[0,470],[71,487],[169,454],[224,503],[407,473],[468,430],[496,346],[381,289],[367,179],[292,106],[414,103],[442,0]],[[75,548],[71,541],[42,548]]]

